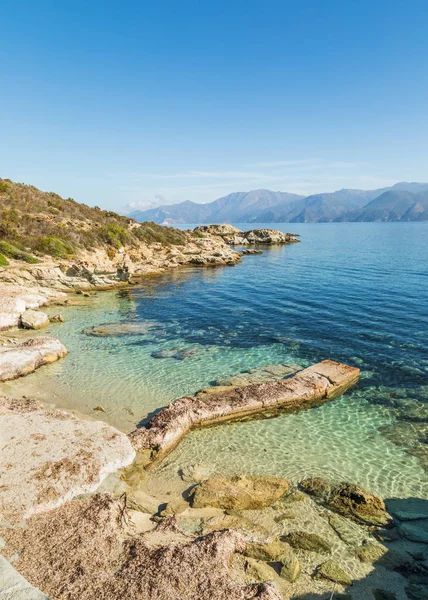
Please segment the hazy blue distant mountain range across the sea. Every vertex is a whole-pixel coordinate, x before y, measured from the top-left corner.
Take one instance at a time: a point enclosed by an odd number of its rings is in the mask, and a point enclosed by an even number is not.
[[[378,190],[339,190],[299,196],[235,192],[207,204],[180,202],[130,213],[137,221],[178,223],[330,223],[428,221],[428,183],[401,182]]]

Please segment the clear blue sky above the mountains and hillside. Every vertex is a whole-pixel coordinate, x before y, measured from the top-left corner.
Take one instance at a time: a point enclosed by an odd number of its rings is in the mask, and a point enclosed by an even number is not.
[[[427,0],[0,15],[0,177],[114,209],[428,181]]]

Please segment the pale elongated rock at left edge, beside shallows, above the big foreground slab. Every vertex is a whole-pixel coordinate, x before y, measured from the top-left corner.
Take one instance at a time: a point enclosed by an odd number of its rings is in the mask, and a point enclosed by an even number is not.
[[[66,354],[65,346],[51,337],[31,338],[21,344],[0,346],[0,381],[28,375]]]

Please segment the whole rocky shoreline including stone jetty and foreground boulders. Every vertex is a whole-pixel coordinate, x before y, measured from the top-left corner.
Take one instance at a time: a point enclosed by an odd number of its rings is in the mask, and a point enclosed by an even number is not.
[[[64,292],[127,286],[186,265],[235,264],[242,253],[234,245],[299,241],[272,230],[207,227],[189,247],[152,246],[144,260],[126,249],[76,264],[11,264],[0,270],[0,329],[43,327],[37,309],[69,302]],[[104,334],[102,327],[90,332]],[[0,381],[66,352],[54,338],[15,343],[6,336]],[[317,406],[359,378],[359,369],[334,361],[252,371],[171,403],[129,436],[29,398],[1,398],[5,598],[426,598],[423,501],[389,506],[345,481],[313,477],[296,486],[266,475],[227,478],[204,464],[183,465],[174,493],[154,492],[160,459],[192,428]]]

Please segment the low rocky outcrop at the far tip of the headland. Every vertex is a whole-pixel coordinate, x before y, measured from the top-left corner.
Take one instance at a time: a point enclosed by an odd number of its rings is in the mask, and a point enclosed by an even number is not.
[[[282,233],[276,229],[251,229],[242,231],[233,225],[200,225],[194,229],[199,235],[215,235],[227,244],[244,246],[247,244],[292,244],[300,242],[296,233]]]

